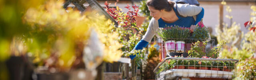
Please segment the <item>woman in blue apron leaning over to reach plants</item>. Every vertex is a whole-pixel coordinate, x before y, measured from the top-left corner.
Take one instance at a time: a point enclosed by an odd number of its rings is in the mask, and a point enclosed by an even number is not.
[[[146,34],[135,46],[135,50],[146,47],[154,35],[159,38],[158,28],[178,25],[194,30],[195,25],[204,17],[204,8],[195,5],[176,4],[167,0],[148,0],[147,6],[153,18],[150,20]],[[133,59],[135,56],[130,58]]]

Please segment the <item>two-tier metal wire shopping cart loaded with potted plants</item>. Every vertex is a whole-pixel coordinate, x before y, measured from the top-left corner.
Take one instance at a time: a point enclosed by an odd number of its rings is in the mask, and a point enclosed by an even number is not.
[[[187,51],[190,48],[186,48],[184,42],[176,42],[181,39],[170,38],[169,40],[176,41],[169,41],[169,43],[166,39],[164,40],[164,38],[159,39],[158,45],[161,45],[160,51],[162,54],[167,54],[169,57],[165,58],[154,69],[156,80],[175,80],[178,78],[190,78],[191,80],[229,80],[236,76],[236,63],[238,60],[215,58],[174,58],[174,54],[175,56],[187,54]],[[194,42],[196,40],[207,41],[208,44],[204,44],[202,47],[202,52],[205,52],[206,54],[214,47],[214,40],[183,39],[185,42]],[[185,47],[183,47],[183,45]],[[184,57],[186,57],[186,55]]]

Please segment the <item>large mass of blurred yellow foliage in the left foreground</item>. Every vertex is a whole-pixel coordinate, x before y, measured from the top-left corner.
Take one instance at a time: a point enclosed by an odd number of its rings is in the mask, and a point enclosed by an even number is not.
[[[29,38],[32,40],[27,42],[31,44],[28,52],[36,56],[34,62],[47,59],[54,53],[59,57],[56,61],[58,66],[62,70],[68,70],[76,56],[83,52],[79,48],[84,48],[91,28],[96,29],[104,44],[104,61],[113,62],[121,57],[122,52],[118,50],[121,45],[116,40],[117,33],[112,31],[114,26],[110,20],[96,11],[80,14],[77,10],[68,9],[66,12],[62,4],[63,1],[50,0],[38,8],[29,8],[24,15],[24,21],[30,25],[31,35],[47,34],[45,44],[36,38]],[[47,57],[43,58],[42,55]]]

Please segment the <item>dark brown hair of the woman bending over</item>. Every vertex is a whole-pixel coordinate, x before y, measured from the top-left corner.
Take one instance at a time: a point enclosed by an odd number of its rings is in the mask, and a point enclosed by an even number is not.
[[[165,11],[172,11],[172,8],[174,6],[174,2],[167,1],[167,0],[148,0],[147,6],[152,6],[156,10],[165,10]]]

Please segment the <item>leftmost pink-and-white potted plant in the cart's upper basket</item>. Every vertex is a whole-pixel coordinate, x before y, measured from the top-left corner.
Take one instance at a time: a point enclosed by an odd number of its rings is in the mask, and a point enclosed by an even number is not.
[[[158,35],[162,37],[164,41],[164,47],[166,48],[166,52],[175,52],[175,40],[174,38],[176,28],[166,26],[165,28],[159,28]]]

